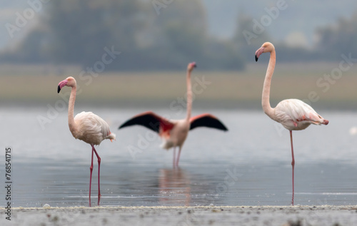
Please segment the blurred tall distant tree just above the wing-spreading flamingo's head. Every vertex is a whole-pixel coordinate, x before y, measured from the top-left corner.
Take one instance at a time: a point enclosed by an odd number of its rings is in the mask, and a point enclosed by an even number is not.
[[[198,61],[201,68],[208,39],[206,11],[201,0],[173,1],[161,9],[151,28],[157,37],[153,47],[169,52],[171,68],[182,68],[188,61]]]

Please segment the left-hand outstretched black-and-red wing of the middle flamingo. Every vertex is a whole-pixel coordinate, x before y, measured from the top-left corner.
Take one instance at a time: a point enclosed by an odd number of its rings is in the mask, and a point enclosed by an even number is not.
[[[135,115],[133,118],[121,124],[119,129],[131,125],[143,125],[156,133],[162,133],[166,130],[171,130],[174,127],[174,123],[171,123],[171,121],[161,117],[160,115],[156,115],[156,113],[152,111],[146,111],[144,113],[140,113],[139,115]]]

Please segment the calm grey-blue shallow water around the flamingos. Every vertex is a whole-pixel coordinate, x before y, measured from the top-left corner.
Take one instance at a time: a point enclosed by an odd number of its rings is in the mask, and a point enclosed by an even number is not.
[[[117,139],[99,145],[100,205],[290,205],[291,150],[288,131],[261,111],[204,111],[225,123],[227,133],[196,128],[188,135],[180,168],[172,150],[146,128],[117,130],[144,109],[96,109]],[[76,108],[75,113],[87,108]],[[89,205],[90,145],[69,132],[66,110],[1,108],[0,147],[11,147],[13,207]],[[204,113],[193,111],[193,115]],[[184,113],[159,109],[168,118]],[[293,132],[296,158],[295,205],[357,204],[355,112],[319,111],[327,126]],[[43,121],[44,118],[45,123]],[[39,123],[42,119],[42,125]],[[4,159],[4,155],[3,155]],[[4,160],[0,171],[4,178]],[[94,160],[92,206],[97,205],[98,164]],[[4,179],[5,180],[5,179]],[[4,181],[5,182],[5,181]],[[2,195],[4,194],[4,195]],[[1,196],[5,196],[1,190]],[[4,202],[3,202],[4,203]],[[0,204],[4,206],[4,204]]]

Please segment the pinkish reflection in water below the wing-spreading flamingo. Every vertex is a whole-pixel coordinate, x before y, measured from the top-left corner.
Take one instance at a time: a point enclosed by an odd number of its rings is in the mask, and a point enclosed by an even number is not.
[[[181,168],[159,170],[159,202],[161,205],[185,205],[191,202],[191,181]]]

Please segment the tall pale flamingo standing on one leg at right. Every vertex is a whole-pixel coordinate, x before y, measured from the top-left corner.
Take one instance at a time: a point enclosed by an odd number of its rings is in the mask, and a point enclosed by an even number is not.
[[[284,128],[290,131],[290,142],[291,142],[291,166],[294,170],[295,159],[293,157],[293,130],[304,130],[308,125],[327,125],[328,120],[318,115],[311,106],[300,101],[298,99],[286,99],[278,103],[275,108],[271,108],[269,102],[271,77],[274,73],[275,63],[276,63],[276,53],[275,48],[272,43],[263,43],[261,48],[256,51],[256,61],[258,61],[259,56],[262,53],[270,53],[270,59],[268,63],[268,69],[266,70],[266,78],[263,85],[263,94],[261,97],[261,106],[263,107],[264,113],[268,115],[271,119],[276,120],[281,123]],[[294,172],[294,171],[293,171]],[[294,175],[294,173],[293,173]],[[293,194],[294,194],[294,184],[293,184]],[[291,200],[293,205],[293,198]]]

